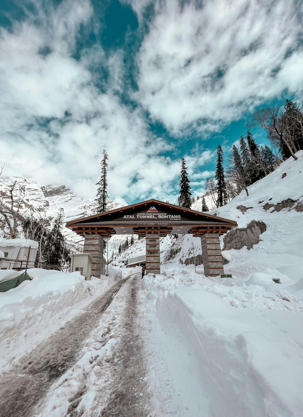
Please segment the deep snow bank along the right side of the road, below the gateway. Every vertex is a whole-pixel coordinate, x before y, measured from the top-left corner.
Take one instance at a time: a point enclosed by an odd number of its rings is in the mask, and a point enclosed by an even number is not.
[[[179,268],[143,279],[184,415],[299,417],[303,280],[267,270],[236,281]]]

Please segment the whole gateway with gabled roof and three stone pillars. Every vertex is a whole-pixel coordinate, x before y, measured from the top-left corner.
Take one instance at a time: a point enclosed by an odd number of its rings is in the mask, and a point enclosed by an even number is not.
[[[97,277],[100,277],[103,258],[103,237],[114,234],[146,237],[147,274],[160,274],[160,236],[192,234],[201,238],[204,274],[224,274],[219,236],[236,226],[237,223],[232,220],[154,199],[75,219],[66,224],[68,229],[84,236],[83,253],[93,256],[92,274]]]

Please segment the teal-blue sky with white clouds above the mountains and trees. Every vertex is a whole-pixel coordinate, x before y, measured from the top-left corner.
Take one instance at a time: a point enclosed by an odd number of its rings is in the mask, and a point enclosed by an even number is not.
[[[302,100],[302,2],[3,1],[0,163],[6,175],[177,201],[193,195],[256,108]],[[258,143],[267,143],[252,128]]]

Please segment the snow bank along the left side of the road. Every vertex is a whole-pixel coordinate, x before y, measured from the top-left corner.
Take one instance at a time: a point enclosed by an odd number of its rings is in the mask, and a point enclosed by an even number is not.
[[[0,271],[0,279],[18,274]],[[47,339],[121,276],[85,281],[79,272],[68,274],[35,268],[28,269],[28,274],[32,281],[0,293],[0,372]]]

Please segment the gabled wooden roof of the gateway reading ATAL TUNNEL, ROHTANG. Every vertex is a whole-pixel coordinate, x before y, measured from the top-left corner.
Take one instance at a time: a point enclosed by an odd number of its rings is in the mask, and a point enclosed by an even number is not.
[[[150,200],[115,208],[104,213],[81,217],[66,223],[77,234],[138,234],[158,233],[200,236],[205,233],[224,234],[238,226],[233,220],[212,216],[164,201]]]

